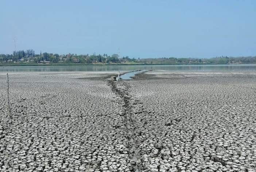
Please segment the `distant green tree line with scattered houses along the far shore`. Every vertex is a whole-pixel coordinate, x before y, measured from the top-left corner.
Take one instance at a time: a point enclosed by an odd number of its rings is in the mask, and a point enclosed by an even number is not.
[[[199,58],[176,58],[176,57],[161,57],[161,58],[148,58],[140,59],[129,58],[128,56],[119,57],[117,54],[111,56],[107,54],[103,55],[77,55],[66,54],[59,55],[57,53],[41,53],[35,54],[35,51],[28,49],[26,51],[14,51],[12,54],[0,54],[0,63],[81,63],[81,64],[239,64],[239,63],[256,63],[256,56],[249,57],[227,57],[220,56],[210,59]]]

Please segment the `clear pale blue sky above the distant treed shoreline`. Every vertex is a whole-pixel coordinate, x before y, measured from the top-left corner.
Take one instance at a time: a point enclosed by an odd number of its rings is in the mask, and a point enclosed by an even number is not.
[[[256,55],[255,0],[1,0],[0,53]]]

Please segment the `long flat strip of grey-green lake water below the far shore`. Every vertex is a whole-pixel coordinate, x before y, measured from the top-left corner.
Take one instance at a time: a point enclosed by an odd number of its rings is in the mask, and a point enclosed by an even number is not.
[[[256,64],[189,64],[189,65],[88,65],[88,66],[26,66],[0,67],[0,72],[78,72],[78,71],[256,71]]]

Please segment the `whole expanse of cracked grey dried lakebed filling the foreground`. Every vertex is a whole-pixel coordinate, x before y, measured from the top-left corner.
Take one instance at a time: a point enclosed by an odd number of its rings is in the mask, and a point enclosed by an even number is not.
[[[103,75],[0,75],[0,171],[255,171],[256,73]]]

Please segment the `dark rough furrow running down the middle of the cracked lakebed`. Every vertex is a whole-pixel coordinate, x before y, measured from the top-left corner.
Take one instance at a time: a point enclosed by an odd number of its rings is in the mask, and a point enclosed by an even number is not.
[[[129,160],[127,161],[127,166],[132,172],[141,172],[146,171],[146,164],[143,161],[143,151],[140,148],[143,140],[141,139],[141,133],[143,132],[143,126],[147,122],[144,119],[140,120],[140,124],[138,125],[138,121],[135,117],[140,113],[143,113],[142,103],[139,100],[134,99],[129,94],[129,85],[126,82],[120,82],[119,86],[116,87],[116,83],[110,81],[109,82],[112,91],[121,98],[123,103],[123,110],[120,113],[120,116],[123,118],[124,135],[127,139],[127,143],[124,145],[128,148],[128,156]],[[139,111],[134,109],[134,106],[137,104],[141,104]]]

